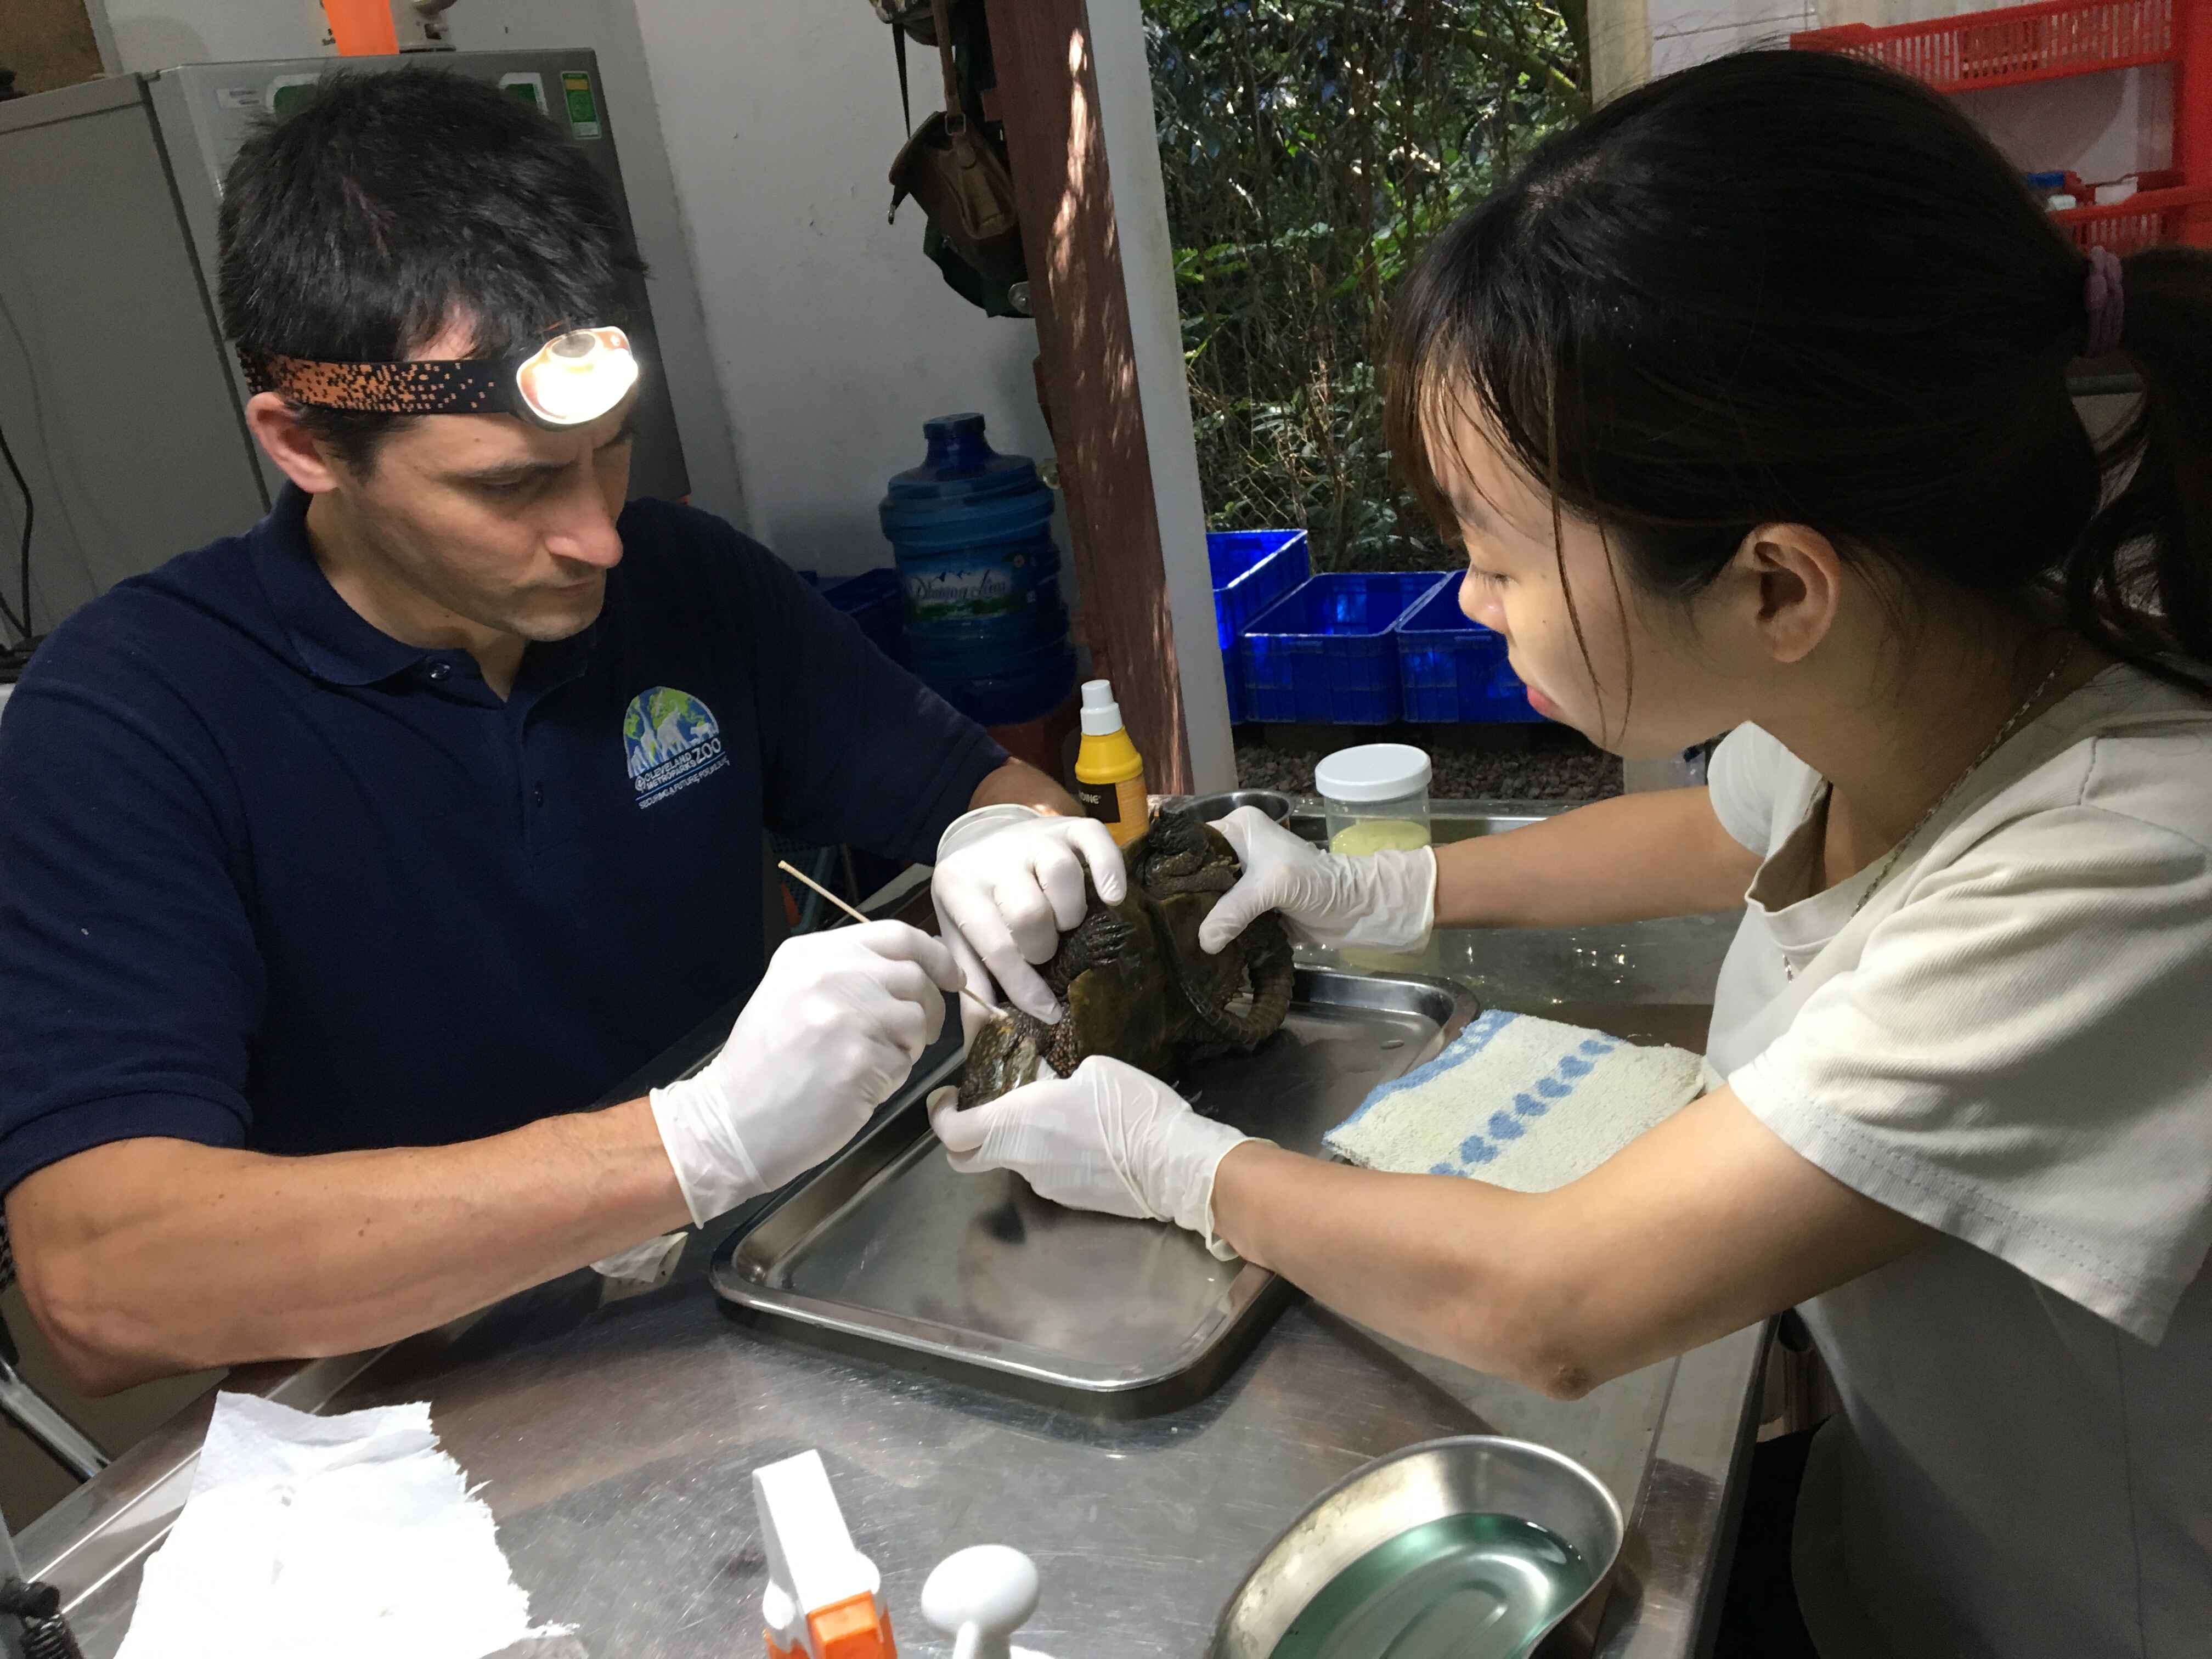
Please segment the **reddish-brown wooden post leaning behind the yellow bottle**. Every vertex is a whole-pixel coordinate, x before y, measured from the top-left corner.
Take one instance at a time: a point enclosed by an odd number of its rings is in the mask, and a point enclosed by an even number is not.
[[[1135,0],[1113,2],[1135,7]],[[1037,385],[1068,509],[1084,644],[1097,672],[1115,684],[1152,790],[1228,787],[1223,774],[1234,761],[1225,714],[1212,721],[1221,728],[1219,741],[1201,745],[1208,752],[1192,763],[1186,679],[1203,672],[1197,648],[1212,650],[1212,628],[1186,639],[1179,661],[1088,7],[1084,0],[987,0],[987,13],[1037,316]],[[1141,142],[1155,139],[1146,133]],[[1179,354],[1175,372],[1181,374]],[[1177,535],[1186,529],[1203,538],[1203,524],[1177,526]],[[1194,633],[1188,615],[1186,633]],[[1225,710],[1219,681],[1188,690]]]

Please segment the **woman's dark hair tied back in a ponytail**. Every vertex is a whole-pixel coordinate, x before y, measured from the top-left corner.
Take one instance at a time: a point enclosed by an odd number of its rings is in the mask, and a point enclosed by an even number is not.
[[[2042,597],[2205,690],[2212,254],[2126,259],[2143,398],[2104,453],[2066,392],[2088,270],[1936,93],[1721,58],[1553,137],[1427,252],[1394,310],[1391,447],[1449,526],[1429,445],[1480,407],[1650,593],[1807,524],[1889,575]]]

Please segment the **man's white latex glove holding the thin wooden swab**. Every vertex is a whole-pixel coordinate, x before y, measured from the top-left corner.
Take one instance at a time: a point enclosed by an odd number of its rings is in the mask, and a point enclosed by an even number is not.
[[[692,1221],[774,1192],[860,1133],[945,1029],[953,953],[905,922],[783,945],[703,1071],[653,1091]]]

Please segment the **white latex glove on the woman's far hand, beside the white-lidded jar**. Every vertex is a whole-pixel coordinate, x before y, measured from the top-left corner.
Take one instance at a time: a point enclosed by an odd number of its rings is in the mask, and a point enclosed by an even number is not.
[[[1281,911],[1298,945],[1369,945],[1413,951],[1436,925],[1436,854],[1321,852],[1259,807],[1214,823],[1243,876],[1199,922],[1199,949],[1219,953],[1259,916]]]

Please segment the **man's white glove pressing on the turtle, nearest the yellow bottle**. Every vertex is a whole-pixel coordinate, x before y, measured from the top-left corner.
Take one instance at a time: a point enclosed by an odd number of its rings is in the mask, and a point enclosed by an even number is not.
[[[938,872],[929,880],[938,929],[969,998],[995,1009],[998,980],[1013,1006],[1055,1024],[1060,1000],[1033,964],[1048,962],[1060,936],[1084,918],[1086,865],[1102,900],[1119,905],[1128,896],[1121,849],[1097,818],[987,814],[1004,807],[953,818],[938,843]],[[978,834],[964,834],[971,823]]]

